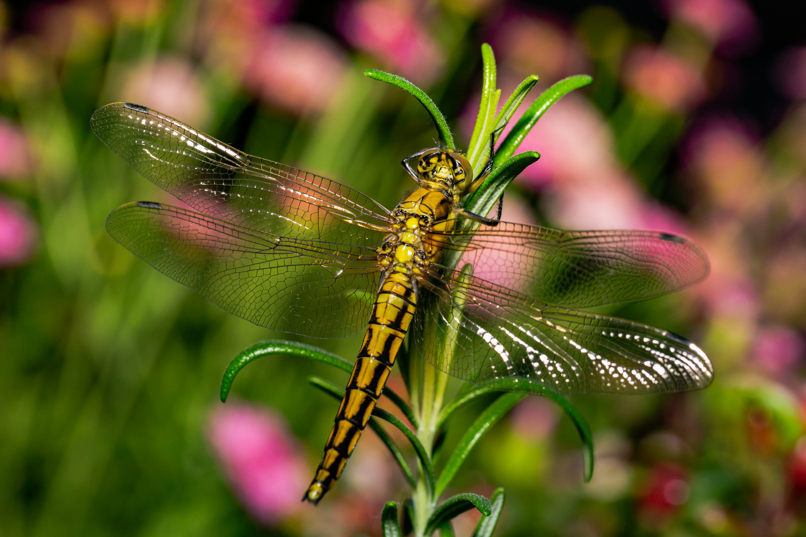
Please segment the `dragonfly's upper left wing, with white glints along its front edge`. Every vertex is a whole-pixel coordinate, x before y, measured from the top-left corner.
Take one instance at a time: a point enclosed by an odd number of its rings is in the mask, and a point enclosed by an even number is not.
[[[388,226],[388,210],[361,192],[247,155],[156,110],[118,102],[96,110],[90,124],[131,167],[210,217],[283,237],[373,248],[379,235],[364,229]]]

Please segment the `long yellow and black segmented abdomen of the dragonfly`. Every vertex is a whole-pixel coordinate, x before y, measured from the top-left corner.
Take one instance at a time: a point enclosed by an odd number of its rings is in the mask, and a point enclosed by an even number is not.
[[[318,503],[347,464],[392,371],[414,316],[417,294],[408,271],[384,275],[367,335],[325,445],[325,455],[303,500]]]

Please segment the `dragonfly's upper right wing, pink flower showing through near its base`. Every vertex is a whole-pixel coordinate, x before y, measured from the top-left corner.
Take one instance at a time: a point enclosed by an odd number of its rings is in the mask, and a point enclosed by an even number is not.
[[[697,246],[657,231],[560,231],[501,222],[434,232],[429,240],[446,248],[445,262],[456,262],[457,269],[470,262],[481,279],[573,308],[650,299],[708,275],[708,259]]]

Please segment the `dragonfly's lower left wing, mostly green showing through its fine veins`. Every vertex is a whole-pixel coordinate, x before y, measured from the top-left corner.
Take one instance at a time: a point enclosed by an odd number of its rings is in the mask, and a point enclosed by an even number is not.
[[[366,328],[380,280],[374,248],[277,237],[169,205],[123,205],[106,229],[227,312],[303,336]]]

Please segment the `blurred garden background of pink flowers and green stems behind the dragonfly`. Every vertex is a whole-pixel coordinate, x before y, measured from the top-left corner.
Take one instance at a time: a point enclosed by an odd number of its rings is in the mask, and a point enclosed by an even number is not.
[[[147,105],[393,206],[413,187],[400,159],[436,132],[362,72],[421,85],[467,143],[483,42],[505,95],[532,73],[531,98],[595,78],[526,138],[542,158],[505,219],[696,240],[708,280],[606,311],[696,341],[717,377],[693,394],[572,398],[595,434],[588,484],[573,425],[528,398],[454,492],[505,486],[501,536],[806,535],[802,21],[744,0],[0,3],[0,535],[379,535],[405,488],[370,433],[318,508],[298,502],[337,407],[305,378],[346,378],[264,359],[218,402],[231,357],[281,335],[108,237],[119,204],[170,196],[89,116]],[[308,342],[352,359],[359,338]]]

